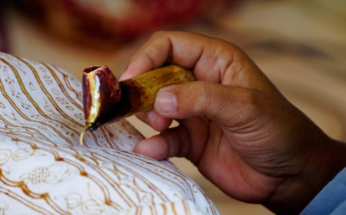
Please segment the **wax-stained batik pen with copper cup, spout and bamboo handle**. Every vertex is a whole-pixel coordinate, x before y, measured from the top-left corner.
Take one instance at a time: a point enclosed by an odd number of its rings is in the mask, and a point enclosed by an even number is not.
[[[83,73],[83,105],[86,131],[152,109],[163,86],[194,81],[192,72],[181,66],[158,68],[118,82],[107,66],[91,66]]]

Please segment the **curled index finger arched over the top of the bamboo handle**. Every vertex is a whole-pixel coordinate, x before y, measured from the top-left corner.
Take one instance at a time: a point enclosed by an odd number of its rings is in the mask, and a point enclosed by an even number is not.
[[[196,80],[277,93],[266,75],[237,46],[192,32],[154,33],[131,57],[120,80],[165,63],[192,69]]]

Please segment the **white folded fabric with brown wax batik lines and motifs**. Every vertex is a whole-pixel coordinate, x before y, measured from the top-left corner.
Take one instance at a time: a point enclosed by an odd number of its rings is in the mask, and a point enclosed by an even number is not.
[[[0,53],[0,214],[219,214],[169,160],[133,153],[126,120],[87,132],[81,83]]]

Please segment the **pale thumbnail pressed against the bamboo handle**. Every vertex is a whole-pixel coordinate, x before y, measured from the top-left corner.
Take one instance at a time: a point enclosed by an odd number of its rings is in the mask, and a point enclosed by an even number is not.
[[[176,111],[176,96],[172,91],[159,90],[156,93],[155,106],[163,112]]]

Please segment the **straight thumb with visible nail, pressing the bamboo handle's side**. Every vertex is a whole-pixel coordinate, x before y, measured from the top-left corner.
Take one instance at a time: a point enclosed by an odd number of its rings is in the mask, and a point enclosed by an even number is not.
[[[190,82],[161,88],[156,94],[154,110],[165,118],[201,117],[232,126],[256,117],[261,94],[248,88]]]

